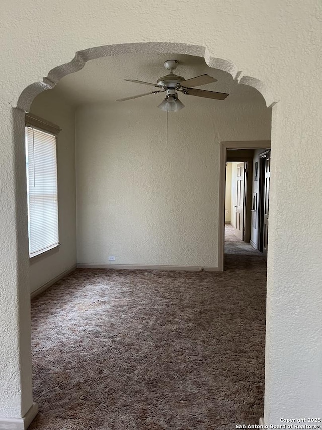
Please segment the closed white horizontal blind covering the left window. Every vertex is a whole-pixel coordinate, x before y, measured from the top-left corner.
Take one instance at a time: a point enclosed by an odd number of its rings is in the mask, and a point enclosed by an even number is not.
[[[29,255],[58,245],[56,136],[26,127]]]

